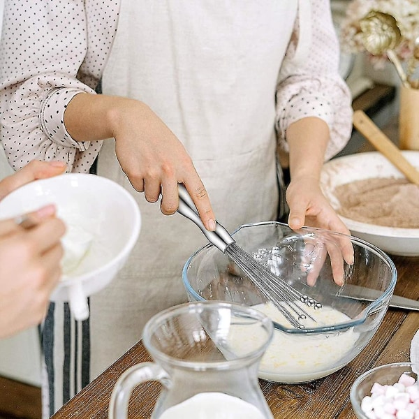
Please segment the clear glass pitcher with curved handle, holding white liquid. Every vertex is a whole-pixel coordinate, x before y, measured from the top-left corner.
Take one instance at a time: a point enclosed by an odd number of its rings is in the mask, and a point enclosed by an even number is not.
[[[142,342],[154,362],[126,370],[115,384],[110,419],[126,419],[131,392],[163,384],[152,419],[273,419],[258,382],[272,339],[264,314],[228,302],[181,304],[156,314]]]

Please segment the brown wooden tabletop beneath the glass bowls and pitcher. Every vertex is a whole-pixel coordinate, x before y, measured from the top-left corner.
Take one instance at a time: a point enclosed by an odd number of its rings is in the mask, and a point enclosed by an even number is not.
[[[395,293],[417,299],[419,258],[393,256],[392,260],[398,272]],[[349,401],[349,390],[355,378],[377,365],[409,360],[410,342],[418,328],[418,311],[388,309],[372,341],[343,369],[328,377],[302,385],[281,385],[260,381],[274,418],[355,418]],[[138,342],[52,418],[108,418],[110,393],[117,378],[128,367],[149,360],[144,346]],[[131,397],[128,418],[150,418],[154,402],[159,397],[159,389],[159,383],[145,383],[135,390]]]

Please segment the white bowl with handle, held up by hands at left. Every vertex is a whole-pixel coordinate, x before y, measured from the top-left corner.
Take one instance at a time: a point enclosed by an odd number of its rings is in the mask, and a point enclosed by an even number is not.
[[[84,320],[89,316],[87,296],[112,281],[138,240],[140,210],[130,193],[116,182],[71,173],[36,180],[13,191],[0,202],[0,218],[30,212],[48,203],[57,206],[57,215],[67,225],[63,242],[77,242],[82,235],[91,239],[80,263],[64,274],[51,295],[52,301],[70,302],[75,318]],[[73,232],[70,239],[69,230]],[[64,257],[66,254],[68,251]]]

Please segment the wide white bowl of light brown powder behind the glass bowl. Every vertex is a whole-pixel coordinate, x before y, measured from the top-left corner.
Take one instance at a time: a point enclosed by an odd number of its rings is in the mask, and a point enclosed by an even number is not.
[[[404,151],[419,170],[419,152]],[[419,186],[379,152],[332,159],[321,188],[351,234],[400,256],[419,256]]]

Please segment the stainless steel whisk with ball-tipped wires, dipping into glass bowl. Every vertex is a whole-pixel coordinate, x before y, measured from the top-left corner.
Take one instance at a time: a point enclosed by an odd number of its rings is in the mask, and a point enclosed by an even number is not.
[[[230,256],[233,262],[247,274],[247,277],[249,277],[256,288],[258,288],[260,293],[277,307],[293,327],[298,329],[304,328],[301,321],[306,318],[311,318],[311,320],[315,321],[315,319],[300,307],[300,305],[296,304],[296,302],[302,302],[307,305],[307,307],[314,307],[315,309],[322,307],[320,302],[297,291],[293,286],[287,284],[284,279],[272,273],[268,267],[259,263],[253,256],[244,251],[244,249],[237,246],[230,233],[228,233],[226,228],[221,226],[217,221],[215,231],[208,231],[201,221],[198,210],[196,210],[196,206],[193,204],[193,200],[191,199],[191,196],[189,196],[185,186],[179,184],[178,188],[179,207],[177,212],[193,221],[193,223],[196,223],[210,243],[226,255]]]

